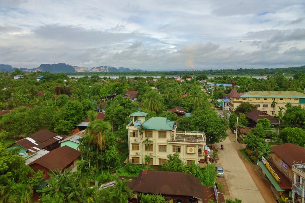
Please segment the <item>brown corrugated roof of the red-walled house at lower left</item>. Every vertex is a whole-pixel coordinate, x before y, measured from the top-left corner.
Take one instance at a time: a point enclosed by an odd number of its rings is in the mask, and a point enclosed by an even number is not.
[[[29,166],[33,164],[41,165],[50,170],[64,169],[75,159],[81,156],[81,152],[69,146],[59,147],[46,155],[36,159]]]

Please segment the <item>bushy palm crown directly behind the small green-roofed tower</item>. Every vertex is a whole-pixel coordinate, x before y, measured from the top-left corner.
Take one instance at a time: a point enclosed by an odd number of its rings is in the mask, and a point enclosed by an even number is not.
[[[163,99],[162,96],[158,93],[158,91],[151,90],[144,95],[144,102],[142,107],[147,108],[150,111],[160,112],[162,108]]]

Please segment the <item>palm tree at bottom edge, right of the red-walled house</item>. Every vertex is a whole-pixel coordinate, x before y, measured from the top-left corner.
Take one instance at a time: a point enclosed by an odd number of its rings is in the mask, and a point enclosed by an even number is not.
[[[78,160],[76,164],[77,170],[73,172],[73,175],[78,180],[77,182],[81,185],[85,194],[85,188],[89,185],[88,179],[89,177],[94,175],[95,169],[92,166],[88,167],[86,165],[87,160]],[[85,202],[85,199],[83,200],[83,202]]]

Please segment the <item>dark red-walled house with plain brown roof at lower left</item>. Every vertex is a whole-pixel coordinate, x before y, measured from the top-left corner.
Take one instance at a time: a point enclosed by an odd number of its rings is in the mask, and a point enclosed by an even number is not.
[[[76,161],[81,156],[81,152],[77,151],[68,146],[59,147],[53,151],[41,156],[35,161],[31,162],[29,166],[37,172],[38,170],[43,171],[43,179],[48,180],[50,176],[48,171],[55,171],[57,169],[76,169]]]

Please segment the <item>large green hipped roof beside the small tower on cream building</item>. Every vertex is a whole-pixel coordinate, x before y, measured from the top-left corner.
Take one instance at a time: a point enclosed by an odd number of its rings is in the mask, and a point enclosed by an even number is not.
[[[145,121],[143,126],[149,130],[172,130],[174,121],[169,121],[163,117],[152,117]]]

